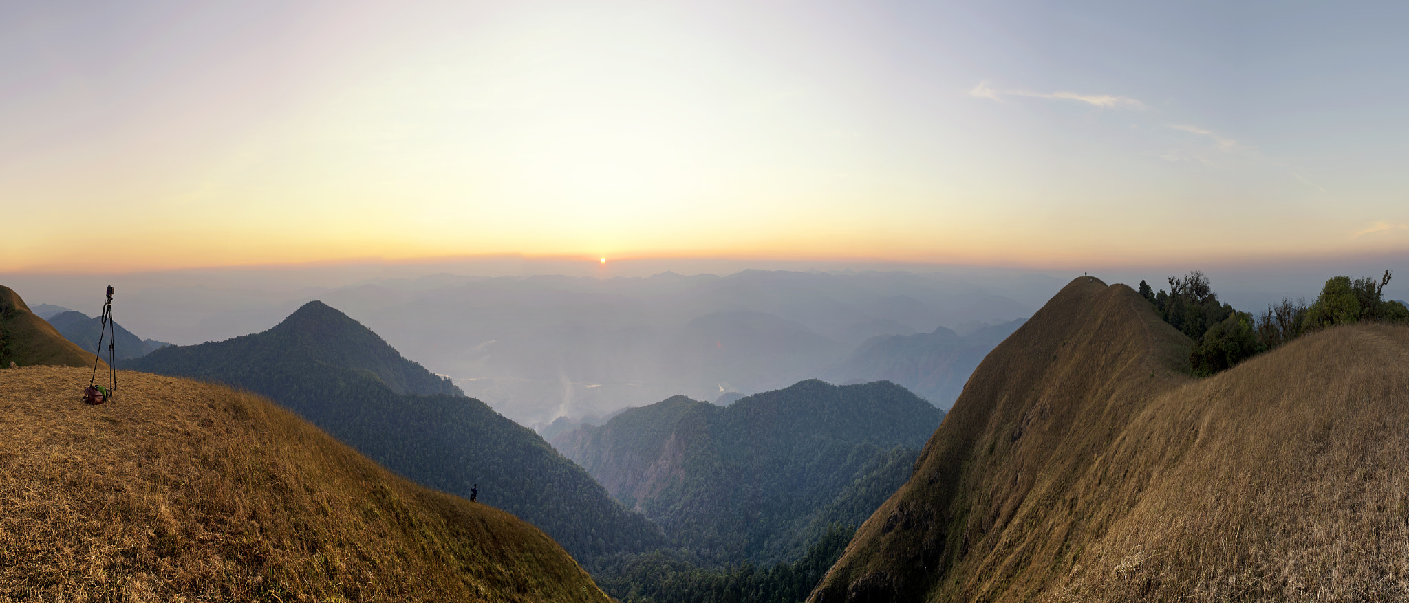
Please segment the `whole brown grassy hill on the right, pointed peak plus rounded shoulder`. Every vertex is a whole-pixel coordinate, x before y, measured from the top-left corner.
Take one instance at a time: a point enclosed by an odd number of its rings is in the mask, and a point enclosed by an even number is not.
[[[1124,285],[1000,344],[812,602],[1403,600],[1409,327],[1208,379]]]

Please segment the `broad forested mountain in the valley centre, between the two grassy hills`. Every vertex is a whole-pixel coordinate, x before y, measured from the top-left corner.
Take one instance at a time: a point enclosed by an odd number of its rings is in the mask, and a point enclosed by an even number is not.
[[[683,396],[554,445],[706,562],[790,562],[909,478],[943,413],[889,382],[805,380],[728,407]]]

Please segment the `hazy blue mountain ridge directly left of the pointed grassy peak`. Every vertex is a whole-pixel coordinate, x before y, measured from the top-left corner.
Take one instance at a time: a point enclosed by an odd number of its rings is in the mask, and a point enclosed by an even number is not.
[[[933,332],[872,337],[823,378],[833,383],[890,380],[948,409],[983,356],[1023,323],[982,325],[965,335],[937,327]]]

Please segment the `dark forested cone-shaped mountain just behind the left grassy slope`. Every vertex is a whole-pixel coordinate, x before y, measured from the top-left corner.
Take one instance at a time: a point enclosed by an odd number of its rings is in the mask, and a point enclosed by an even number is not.
[[[321,302],[265,332],[162,348],[132,366],[268,396],[424,486],[468,497],[478,485],[480,503],[538,526],[579,559],[664,542],[537,434]]]

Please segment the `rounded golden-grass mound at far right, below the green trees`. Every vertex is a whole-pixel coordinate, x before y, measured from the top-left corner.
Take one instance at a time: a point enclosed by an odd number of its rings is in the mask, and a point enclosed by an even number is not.
[[[1409,599],[1409,328],[1317,332],[1160,396],[1107,466],[1134,504],[1065,599]]]

